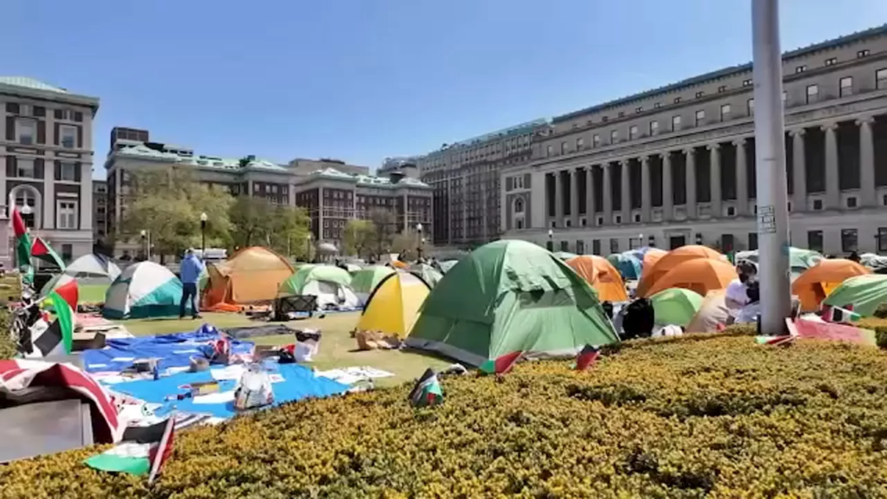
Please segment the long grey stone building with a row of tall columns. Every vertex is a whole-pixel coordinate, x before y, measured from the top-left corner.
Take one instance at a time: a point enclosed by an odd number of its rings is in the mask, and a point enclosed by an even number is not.
[[[783,56],[791,242],[887,251],[887,27]],[[507,237],[607,255],[757,248],[751,65],[553,119],[503,170]]]

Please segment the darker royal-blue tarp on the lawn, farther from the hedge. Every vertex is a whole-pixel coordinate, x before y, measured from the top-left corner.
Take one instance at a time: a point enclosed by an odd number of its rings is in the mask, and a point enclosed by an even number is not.
[[[167,368],[186,368],[192,356],[200,356],[198,347],[224,337],[218,329],[203,324],[190,333],[173,333],[160,337],[114,338],[106,341],[106,347],[82,352],[83,366],[87,372],[119,372],[132,366],[136,359],[160,359],[161,371]],[[253,352],[251,341],[231,339],[232,355]]]

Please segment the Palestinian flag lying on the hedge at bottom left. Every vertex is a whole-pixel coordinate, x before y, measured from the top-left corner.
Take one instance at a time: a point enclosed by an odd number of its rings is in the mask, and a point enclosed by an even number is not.
[[[147,474],[148,484],[151,484],[172,454],[175,436],[174,414],[151,426],[130,426],[123,431],[123,438],[116,447],[93,455],[84,463],[101,471]]]

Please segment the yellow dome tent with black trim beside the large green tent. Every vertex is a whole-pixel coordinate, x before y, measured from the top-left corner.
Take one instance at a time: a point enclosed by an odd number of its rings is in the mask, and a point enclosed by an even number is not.
[[[389,273],[373,289],[357,329],[405,337],[430,291],[428,283],[414,273]]]

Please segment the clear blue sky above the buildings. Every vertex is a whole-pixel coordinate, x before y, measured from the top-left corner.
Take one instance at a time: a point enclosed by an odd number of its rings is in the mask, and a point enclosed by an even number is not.
[[[377,167],[751,58],[750,0],[4,0],[0,75],[202,154]],[[887,21],[782,0],[782,48]]]

